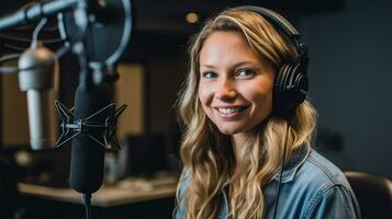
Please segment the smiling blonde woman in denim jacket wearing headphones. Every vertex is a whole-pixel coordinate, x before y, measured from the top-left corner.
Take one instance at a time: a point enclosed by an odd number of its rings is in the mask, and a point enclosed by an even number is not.
[[[359,218],[341,171],[311,148],[316,112],[301,96],[305,74],[289,77],[299,79],[294,97],[277,94],[281,69],[301,61],[293,68],[305,71],[306,51],[260,10],[281,20],[266,9],[226,10],[190,46],[175,217]],[[287,96],[294,104],[280,102]]]

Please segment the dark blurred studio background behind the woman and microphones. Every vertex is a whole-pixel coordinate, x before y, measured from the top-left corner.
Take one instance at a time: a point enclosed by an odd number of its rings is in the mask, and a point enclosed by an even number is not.
[[[0,14],[29,2],[2,0]],[[134,0],[134,30],[119,64],[114,91],[116,104],[128,105],[119,122],[123,150],[107,153],[105,182],[160,171],[178,174],[180,130],[175,102],[188,69],[188,39],[205,19],[243,4],[280,12],[307,45],[309,99],[318,112],[316,149],[344,171],[392,177],[391,1]],[[0,34],[0,54],[29,46],[10,39],[10,34]],[[31,32],[22,34],[30,37]],[[58,37],[56,31],[51,34]],[[57,95],[70,107],[78,62],[69,54],[59,64]],[[70,147],[30,150],[26,97],[19,90],[18,74],[0,74],[0,154],[16,170],[16,180],[67,187]]]

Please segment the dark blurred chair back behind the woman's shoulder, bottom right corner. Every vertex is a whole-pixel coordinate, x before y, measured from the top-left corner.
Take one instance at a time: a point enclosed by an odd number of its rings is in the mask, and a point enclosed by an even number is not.
[[[358,198],[362,219],[392,218],[392,181],[363,172],[345,172]]]

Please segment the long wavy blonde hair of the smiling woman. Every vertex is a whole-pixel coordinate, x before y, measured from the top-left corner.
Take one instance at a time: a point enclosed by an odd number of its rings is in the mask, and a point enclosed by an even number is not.
[[[293,43],[258,13],[229,9],[205,23],[190,44],[190,69],[178,100],[184,125],[180,151],[184,171],[180,181],[189,177],[189,184],[184,195],[180,196],[178,189],[177,201],[184,204],[188,219],[216,218],[222,192],[227,187],[231,217],[264,218],[267,209],[262,187],[280,169],[287,130],[288,160],[299,148],[311,147],[316,112],[305,100],[295,110],[289,129],[284,119],[266,118],[235,159],[229,137],[220,132],[208,118],[198,96],[200,51],[205,39],[216,31],[240,33],[251,49],[276,70],[298,59]]]

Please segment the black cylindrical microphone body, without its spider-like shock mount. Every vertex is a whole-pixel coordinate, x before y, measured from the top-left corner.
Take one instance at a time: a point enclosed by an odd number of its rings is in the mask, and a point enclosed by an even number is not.
[[[99,124],[105,124],[108,115],[98,114],[91,119],[91,115],[104,108],[112,102],[113,90],[108,84],[100,84],[92,88],[79,85],[75,94],[75,120],[85,123],[81,131],[72,138],[70,159],[70,185],[82,194],[97,192],[103,181],[104,150],[98,141],[103,141],[103,131],[94,128]],[[109,112],[114,114],[114,112]]]

